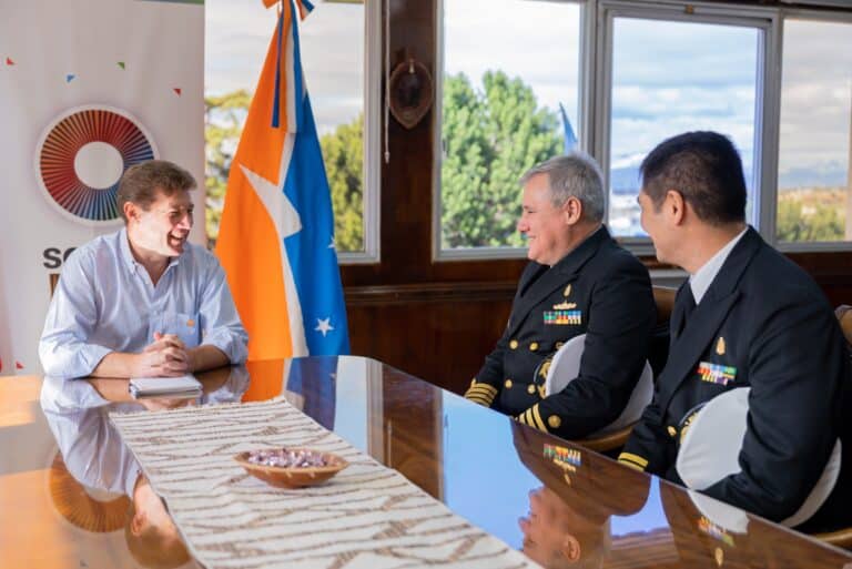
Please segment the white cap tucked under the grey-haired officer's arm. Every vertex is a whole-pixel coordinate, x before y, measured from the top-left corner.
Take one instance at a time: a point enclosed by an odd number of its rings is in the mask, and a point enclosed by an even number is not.
[[[577,377],[580,373],[580,359],[582,358],[585,345],[586,334],[580,334],[566,342],[557,350],[554,359],[550,362],[550,369],[548,369],[547,378],[545,379],[545,395],[561,392]],[[651,403],[652,397],[653,373],[651,372],[651,366],[646,362],[642,375],[639,377],[639,382],[636,384],[625,410],[621,411],[621,415],[615,421],[591,436],[606,435],[632,425],[642,416],[642,411]]]

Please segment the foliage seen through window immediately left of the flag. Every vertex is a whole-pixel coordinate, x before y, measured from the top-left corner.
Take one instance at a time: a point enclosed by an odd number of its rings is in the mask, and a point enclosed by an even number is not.
[[[204,98],[204,186],[207,190],[204,222],[211,247],[219,236],[227,175],[251,102],[252,95],[242,89]]]

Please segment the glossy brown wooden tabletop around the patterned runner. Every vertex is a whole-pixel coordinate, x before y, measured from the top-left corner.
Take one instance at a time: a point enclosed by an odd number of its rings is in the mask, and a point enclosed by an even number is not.
[[[0,378],[0,568],[193,566],[181,548],[155,562],[130,553],[130,499],[103,482],[126,459],[121,443],[110,438],[105,414],[283,394],[545,567],[852,569],[845,551],[625,468],[375,360],[260,362],[199,378],[205,389],[199,399],[144,406],[129,397],[124,379],[83,380],[63,390],[50,378]],[[49,424],[41,408],[42,385],[48,407],[57,394],[72,392],[85,394],[87,405],[101,397],[114,402],[98,407],[99,427],[91,416],[78,427],[72,417],[63,427],[72,466],[51,433],[54,418],[48,413]],[[92,471],[101,482],[88,480]]]

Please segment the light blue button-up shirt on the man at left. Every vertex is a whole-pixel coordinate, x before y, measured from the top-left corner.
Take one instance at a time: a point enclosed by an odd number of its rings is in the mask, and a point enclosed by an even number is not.
[[[39,357],[48,375],[84,377],[111,352],[141,352],[155,332],[176,334],[186,347],[215,346],[232,364],[247,355],[248,337],[216,257],[186,243],[154,285],[122,228],[65,261]]]

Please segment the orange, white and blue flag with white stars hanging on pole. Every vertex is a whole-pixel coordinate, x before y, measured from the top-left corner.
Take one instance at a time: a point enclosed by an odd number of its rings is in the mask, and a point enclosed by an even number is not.
[[[216,255],[248,332],[248,359],[347,354],[334,216],[298,27],[285,0],[231,164]]]

